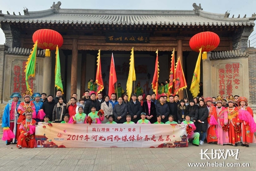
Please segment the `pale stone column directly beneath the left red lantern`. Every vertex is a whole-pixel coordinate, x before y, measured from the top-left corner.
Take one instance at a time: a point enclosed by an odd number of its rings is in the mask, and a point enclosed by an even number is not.
[[[42,92],[46,93],[47,95],[51,94],[51,80],[52,80],[52,54],[50,57],[44,58]]]

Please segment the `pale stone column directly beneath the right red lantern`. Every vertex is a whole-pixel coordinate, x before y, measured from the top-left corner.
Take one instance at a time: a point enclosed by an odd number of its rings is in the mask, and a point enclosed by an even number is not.
[[[207,52],[207,59],[203,60],[203,96],[212,97],[211,94],[211,52]],[[202,71],[202,70],[201,70]],[[216,92],[218,94],[219,92]],[[213,94],[213,96],[215,96]]]

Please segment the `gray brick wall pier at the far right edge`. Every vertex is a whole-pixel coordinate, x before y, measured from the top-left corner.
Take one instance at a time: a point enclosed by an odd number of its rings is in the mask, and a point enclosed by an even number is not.
[[[249,67],[249,94],[251,105],[256,105],[256,48],[249,47],[246,49]]]

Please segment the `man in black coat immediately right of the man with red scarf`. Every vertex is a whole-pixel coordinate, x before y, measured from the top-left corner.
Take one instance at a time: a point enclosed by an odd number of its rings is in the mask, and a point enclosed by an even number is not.
[[[157,116],[161,116],[161,121],[165,123],[168,121],[168,115],[170,110],[168,105],[164,103],[164,96],[160,96],[159,100],[160,103],[156,104]]]

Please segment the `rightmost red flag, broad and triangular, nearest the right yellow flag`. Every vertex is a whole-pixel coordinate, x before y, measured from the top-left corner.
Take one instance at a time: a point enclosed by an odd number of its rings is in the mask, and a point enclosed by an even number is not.
[[[175,68],[175,92],[176,94],[187,87],[186,85],[186,79],[184,76],[184,72],[181,66],[180,59],[178,58],[178,61],[176,63]]]

